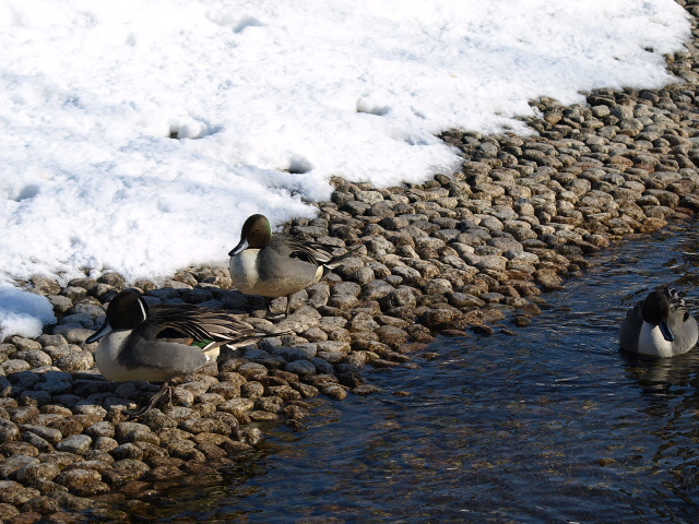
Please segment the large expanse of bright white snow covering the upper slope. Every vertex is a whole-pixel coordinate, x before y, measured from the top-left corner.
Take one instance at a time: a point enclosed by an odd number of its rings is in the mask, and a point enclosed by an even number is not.
[[[450,172],[436,133],[660,87],[689,37],[673,0],[4,0],[0,282],[226,264],[252,213]]]

